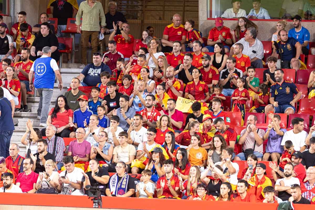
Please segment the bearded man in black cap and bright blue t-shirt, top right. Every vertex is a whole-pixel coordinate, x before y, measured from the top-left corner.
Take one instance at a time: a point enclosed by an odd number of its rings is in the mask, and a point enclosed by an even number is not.
[[[300,15],[295,15],[292,20],[294,28],[290,29],[288,37],[295,38],[301,44],[302,53],[308,55],[308,50],[310,48],[310,32],[302,27],[302,18]]]

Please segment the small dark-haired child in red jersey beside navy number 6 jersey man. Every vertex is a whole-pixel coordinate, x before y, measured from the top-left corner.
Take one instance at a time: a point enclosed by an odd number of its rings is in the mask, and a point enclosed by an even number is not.
[[[249,110],[249,112],[258,112],[258,113],[264,113],[265,107],[267,104],[269,104],[269,92],[268,92],[268,86],[263,83],[259,86],[259,92],[260,94],[255,94],[253,97],[255,99],[254,106]]]

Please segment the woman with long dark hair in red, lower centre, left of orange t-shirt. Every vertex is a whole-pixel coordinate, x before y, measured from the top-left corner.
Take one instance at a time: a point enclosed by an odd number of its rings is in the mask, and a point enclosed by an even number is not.
[[[190,163],[188,162],[187,150],[179,148],[176,153],[174,173],[180,176],[183,180],[188,179]]]

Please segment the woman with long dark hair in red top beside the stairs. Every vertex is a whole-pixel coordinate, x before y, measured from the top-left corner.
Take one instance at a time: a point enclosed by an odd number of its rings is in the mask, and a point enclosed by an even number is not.
[[[48,114],[47,125],[54,125],[56,136],[68,138],[71,130],[69,129],[69,122],[72,122],[73,111],[68,106],[67,99],[64,95],[59,95],[56,100],[55,107],[52,108]],[[42,129],[42,135],[46,135],[46,128]]]

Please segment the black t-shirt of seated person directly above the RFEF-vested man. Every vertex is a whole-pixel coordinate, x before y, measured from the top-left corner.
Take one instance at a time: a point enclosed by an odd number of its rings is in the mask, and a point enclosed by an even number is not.
[[[58,50],[58,39],[57,37],[49,32],[49,34],[46,37],[43,37],[42,34],[38,34],[38,36],[35,38],[33,45],[36,50],[35,54],[37,55],[37,51],[42,51],[44,47],[57,47],[57,49],[51,54],[51,58],[56,60],[56,62],[59,61],[59,50]]]

